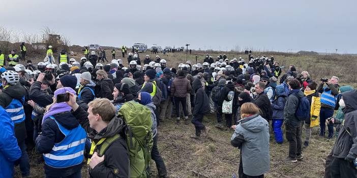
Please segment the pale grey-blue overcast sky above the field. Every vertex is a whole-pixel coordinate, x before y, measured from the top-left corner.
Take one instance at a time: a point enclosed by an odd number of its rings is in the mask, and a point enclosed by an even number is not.
[[[0,25],[31,33],[48,26],[72,45],[357,53],[355,0],[1,2]]]

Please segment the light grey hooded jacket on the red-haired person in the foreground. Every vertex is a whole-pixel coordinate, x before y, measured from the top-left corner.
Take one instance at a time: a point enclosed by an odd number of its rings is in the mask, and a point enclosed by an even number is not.
[[[269,123],[259,115],[244,118],[235,127],[230,143],[242,150],[245,174],[257,176],[269,171],[269,137]]]

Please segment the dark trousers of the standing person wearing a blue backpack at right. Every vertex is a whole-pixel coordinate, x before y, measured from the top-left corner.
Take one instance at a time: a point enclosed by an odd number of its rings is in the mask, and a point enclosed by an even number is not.
[[[298,126],[285,125],[286,129],[286,139],[289,141],[289,156],[291,158],[296,158],[296,155],[301,155],[301,145],[302,145],[302,124]]]

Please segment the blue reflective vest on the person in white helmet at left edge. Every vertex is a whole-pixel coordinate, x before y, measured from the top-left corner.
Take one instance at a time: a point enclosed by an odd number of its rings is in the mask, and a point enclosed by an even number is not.
[[[24,100],[25,97],[22,97],[21,101],[14,98],[12,99],[10,104],[5,108],[5,111],[9,114],[14,124],[21,123],[25,120],[25,112],[23,110],[23,105],[22,105]]]

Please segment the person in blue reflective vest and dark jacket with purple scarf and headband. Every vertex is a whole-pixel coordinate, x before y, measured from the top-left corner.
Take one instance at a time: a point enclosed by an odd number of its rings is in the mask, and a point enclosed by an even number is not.
[[[56,102],[58,94],[75,94],[69,87],[54,92],[53,103],[46,107],[42,133],[36,148],[45,160],[45,177],[81,177],[86,133],[71,114],[66,102]]]

